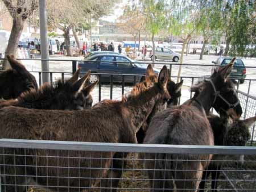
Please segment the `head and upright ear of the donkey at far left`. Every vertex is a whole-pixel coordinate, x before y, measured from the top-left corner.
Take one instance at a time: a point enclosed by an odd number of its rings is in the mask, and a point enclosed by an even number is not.
[[[38,90],[38,84],[36,83],[35,77],[21,64],[20,61],[16,60],[14,55],[6,56],[15,77],[13,77],[13,90],[15,91],[14,97],[18,97],[22,92],[35,89]],[[10,86],[10,85],[9,85]]]

